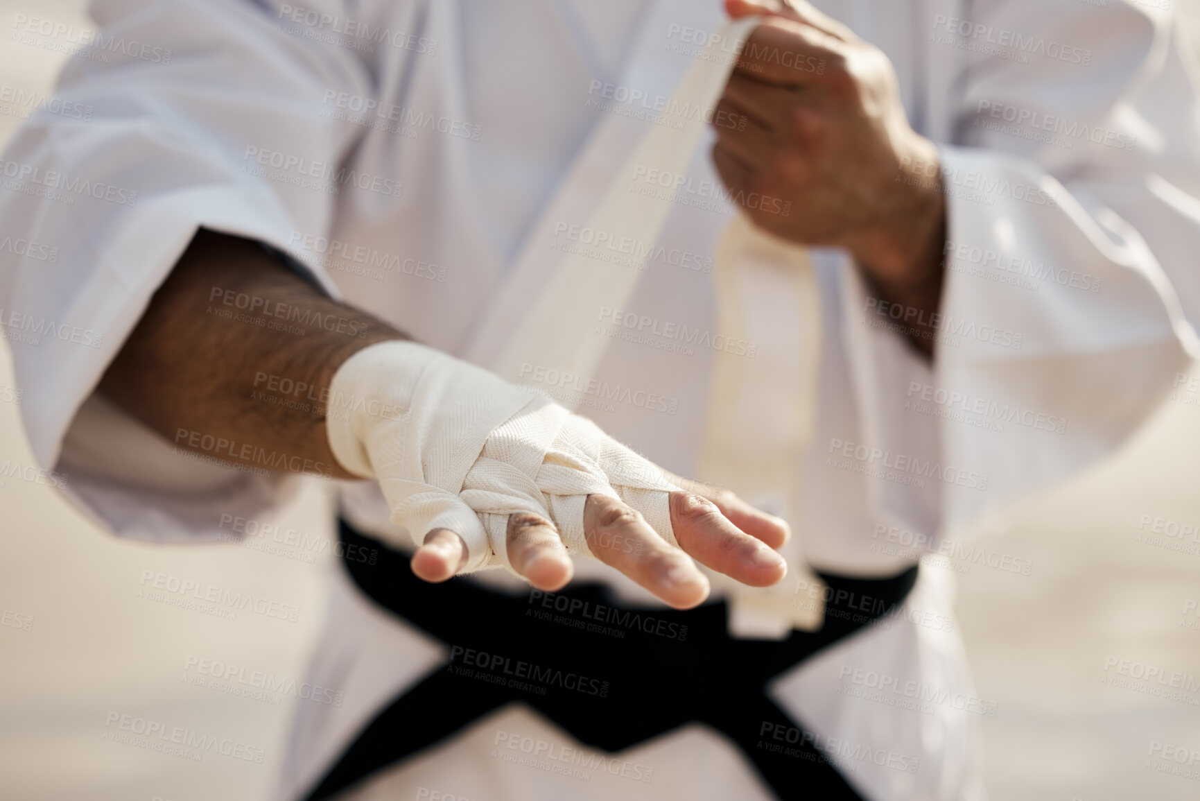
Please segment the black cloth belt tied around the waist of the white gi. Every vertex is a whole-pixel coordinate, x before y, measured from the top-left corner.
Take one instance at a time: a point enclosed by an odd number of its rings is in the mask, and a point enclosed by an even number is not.
[[[308,801],[329,799],[515,701],[607,752],[704,723],[737,745],[780,799],[860,801],[764,687],[901,604],[917,580],[916,566],[889,579],[822,573],[829,590],[821,630],[739,640],[728,635],[724,600],[676,611],[626,606],[594,582],[521,594],[467,578],[427,584],[403,554],[344,520],[338,530],[359,588],[445,642],[451,657],[376,716]],[[350,558],[371,550],[378,560]],[[797,731],[779,748],[770,735],[788,729]]]

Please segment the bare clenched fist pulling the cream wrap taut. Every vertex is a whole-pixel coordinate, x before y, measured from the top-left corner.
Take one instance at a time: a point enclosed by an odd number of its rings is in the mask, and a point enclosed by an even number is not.
[[[937,148],[916,133],[895,71],[875,46],[803,0],[727,0],[766,14],[716,107],[713,160],[758,227],[802,245],[844,247],[898,303],[936,310],[946,202]],[[934,178],[930,178],[930,174]]]

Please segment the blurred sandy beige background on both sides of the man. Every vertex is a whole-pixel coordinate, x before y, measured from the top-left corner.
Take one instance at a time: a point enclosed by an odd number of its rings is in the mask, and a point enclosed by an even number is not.
[[[1180,5],[1189,17],[1200,10],[1200,0]],[[11,30],[17,13],[85,25],[82,6],[0,0],[0,30]],[[7,34],[2,41],[0,89],[48,90],[66,55],[10,42]],[[0,145],[17,124],[0,116]],[[32,465],[12,384],[0,346],[0,465]],[[1136,539],[1144,515],[1200,526],[1195,404],[1194,396],[1168,402],[1120,459],[985,543],[1032,562],[1030,575],[960,564],[958,622],[978,694],[998,704],[983,719],[996,801],[1200,799],[1200,755],[1198,778],[1188,778],[1156,770],[1169,764],[1151,754],[1154,742],[1200,754],[1200,693],[1181,701],[1104,683],[1110,658],[1200,680],[1200,616],[1184,614],[1200,600],[1200,542],[1187,555]],[[328,537],[326,509],[313,490],[275,522]],[[293,705],[311,701],[239,698],[188,677],[210,659],[299,685],[324,608],[330,563],[319,551],[119,542],[53,490],[7,479],[0,485],[0,797],[265,797]],[[166,605],[146,597],[148,570],[253,591],[299,608],[298,620],[247,611],[226,620]],[[106,739],[113,713],[230,737],[264,758],[208,753],[197,763],[113,742]]]

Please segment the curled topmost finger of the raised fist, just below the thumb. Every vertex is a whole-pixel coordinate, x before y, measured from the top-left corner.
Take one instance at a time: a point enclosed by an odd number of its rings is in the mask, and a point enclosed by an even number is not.
[[[746,38],[734,72],[780,86],[814,85],[842,60],[844,44],[811,25],[773,17]]]

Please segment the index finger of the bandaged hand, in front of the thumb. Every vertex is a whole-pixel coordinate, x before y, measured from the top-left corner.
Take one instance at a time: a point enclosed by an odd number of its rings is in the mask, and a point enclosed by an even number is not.
[[[676,490],[670,506],[679,548],[701,564],[751,587],[769,587],[787,574],[782,556],[734,526],[708,498]]]

